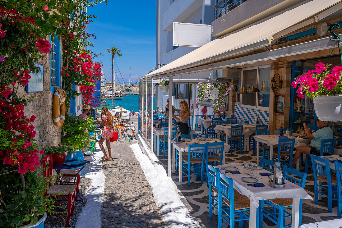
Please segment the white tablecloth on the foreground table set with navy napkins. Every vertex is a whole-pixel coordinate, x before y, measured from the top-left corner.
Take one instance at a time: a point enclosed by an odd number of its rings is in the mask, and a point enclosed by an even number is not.
[[[244,162],[245,163],[245,162]],[[284,188],[273,188],[269,186],[268,176],[261,176],[259,173],[269,173],[268,171],[261,169],[257,170],[257,173],[255,177],[258,179],[258,183],[264,183],[265,187],[255,187],[251,188],[248,187],[246,182],[243,182],[241,180],[242,177],[248,176],[243,174],[243,164],[244,163],[228,163],[224,165],[218,165],[221,173],[224,173],[225,170],[221,170],[226,166],[235,166],[239,169],[241,174],[225,174],[227,177],[233,179],[234,183],[234,189],[236,189],[240,194],[247,196],[250,199],[251,204],[254,204],[255,206],[259,206],[259,200],[269,200],[269,199],[277,199],[277,198],[286,198],[286,199],[312,199],[311,196],[309,196],[306,191],[296,185],[292,182],[289,182],[285,180],[285,187]]]

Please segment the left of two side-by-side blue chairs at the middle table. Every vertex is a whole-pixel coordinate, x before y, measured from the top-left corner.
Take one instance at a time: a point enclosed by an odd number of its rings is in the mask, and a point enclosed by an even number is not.
[[[188,176],[188,185],[190,186],[190,174],[196,174],[197,177],[201,176],[201,184],[203,184],[204,173],[204,159],[207,143],[203,144],[189,144],[188,156],[183,157],[182,172]],[[191,173],[190,171],[194,172]],[[181,172],[180,171],[180,172]]]

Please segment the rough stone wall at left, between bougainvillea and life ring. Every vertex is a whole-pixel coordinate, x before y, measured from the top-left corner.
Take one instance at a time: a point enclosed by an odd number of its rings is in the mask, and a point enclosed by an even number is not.
[[[50,56],[45,55],[42,59],[39,59],[38,63],[44,66],[44,87],[42,93],[26,93],[26,88],[20,88],[18,90],[18,96],[34,96],[31,103],[29,103],[25,109],[25,115],[30,117],[36,116],[35,122],[32,124],[35,127],[37,145],[40,148],[44,148],[45,145],[51,143],[56,145],[61,142],[62,128],[57,128],[52,120],[52,99],[53,94],[50,90]]]

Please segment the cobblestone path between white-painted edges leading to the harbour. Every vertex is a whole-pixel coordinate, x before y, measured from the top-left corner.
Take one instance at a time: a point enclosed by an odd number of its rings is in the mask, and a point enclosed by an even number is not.
[[[113,161],[103,162],[106,176],[102,227],[167,227],[130,142],[111,143]]]

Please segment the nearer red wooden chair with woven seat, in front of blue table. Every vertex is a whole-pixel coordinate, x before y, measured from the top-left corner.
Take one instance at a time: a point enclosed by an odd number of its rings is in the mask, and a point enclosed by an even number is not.
[[[55,202],[54,205],[67,205],[67,211],[54,212],[58,215],[67,215],[66,227],[69,226],[70,216],[74,215],[75,200],[76,200],[76,185],[54,185],[52,180],[52,155],[48,155],[43,159],[43,175],[47,178],[47,188],[44,192],[44,197],[57,198],[62,197],[61,203]],[[68,203],[63,203],[63,197],[68,198]]]

